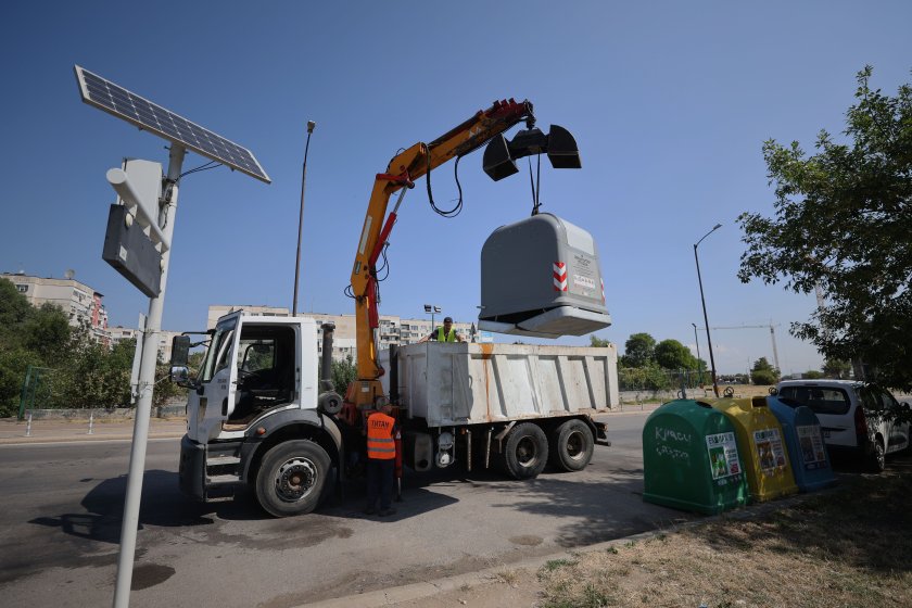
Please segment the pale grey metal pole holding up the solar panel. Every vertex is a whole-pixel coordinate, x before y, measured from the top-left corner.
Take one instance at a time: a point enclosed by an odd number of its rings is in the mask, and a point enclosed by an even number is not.
[[[165,194],[159,217],[165,238],[172,242],[177,211],[178,180],[186,150],[172,143],[167,182],[170,194]],[[165,306],[165,287],[168,282],[168,261],[173,248],[162,254],[162,281],[157,297],[149,299],[149,316],[142,343],[142,363],[139,368],[139,398],[136,403],[134,440],[130,448],[130,469],[127,478],[127,496],[124,501],[124,520],[121,525],[121,555],[117,560],[117,584],[114,590],[114,608],[126,608],[130,603],[136,533],[139,527],[139,502],[142,495],[142,474],[145,469],[145,447],[149,442],[149,418],[152,415],[152,391],[155,388],[155,363],[159,359],[159,334]]]

